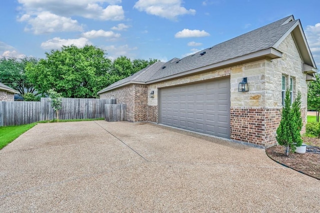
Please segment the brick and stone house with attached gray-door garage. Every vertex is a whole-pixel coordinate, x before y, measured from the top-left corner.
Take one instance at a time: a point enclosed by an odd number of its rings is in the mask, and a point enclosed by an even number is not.
[[[276,144],[284,92],[302,93],[316,65],[300,20],[277,20],[192,55],[157,61],[98,92],[150,121],[268,147]],[[305,125],[302,127],[302,133]]]

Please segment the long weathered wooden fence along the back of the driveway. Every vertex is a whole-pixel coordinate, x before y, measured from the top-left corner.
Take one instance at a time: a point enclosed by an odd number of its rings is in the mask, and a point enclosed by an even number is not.
[[[116,104],[116,99],[62,98],[59,119],[103,118],[105,104]],[[0,126],[51,120],[53,114],[48,97],[41,101],[0,101]]]

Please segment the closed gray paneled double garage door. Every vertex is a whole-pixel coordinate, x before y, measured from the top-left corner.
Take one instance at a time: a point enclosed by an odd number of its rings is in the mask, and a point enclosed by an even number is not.
[[[230,79],[159,89],[159,122],[230,137]]]

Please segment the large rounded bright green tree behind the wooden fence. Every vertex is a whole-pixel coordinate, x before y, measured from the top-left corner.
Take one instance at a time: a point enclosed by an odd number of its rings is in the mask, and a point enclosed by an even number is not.
[[[100,48],[62,46],[45,55],[26,66],[26,75],[39,92],[55,88],[63,97],[97,97],[97,91],[110,83],[111,60]]]

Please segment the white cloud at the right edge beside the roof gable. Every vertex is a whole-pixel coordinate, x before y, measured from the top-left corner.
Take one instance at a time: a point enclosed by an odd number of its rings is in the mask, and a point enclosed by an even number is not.
[[[305,36],[308,41],[316,66],[320,67],[320,23],[306,26]]]

